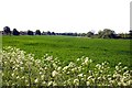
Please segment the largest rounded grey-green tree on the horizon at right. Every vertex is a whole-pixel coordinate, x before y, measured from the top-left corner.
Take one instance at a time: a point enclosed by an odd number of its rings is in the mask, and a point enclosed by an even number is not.
[[[117,37],[114,31],[110,29],[105,29],[103,31],[99,31],[98,36],[102,38],[116,38]]]

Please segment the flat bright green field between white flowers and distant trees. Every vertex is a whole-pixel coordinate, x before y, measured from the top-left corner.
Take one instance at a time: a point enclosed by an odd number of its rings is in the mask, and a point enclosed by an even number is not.
[[[121,62],[132,69],[130,40],[103,40],[72,36],[2,36],[2,46],[15,46],[36,58],[44,54],[53,55],[66,64],[81,56],[89,57],[95,64],[109,62],[113,67]]]

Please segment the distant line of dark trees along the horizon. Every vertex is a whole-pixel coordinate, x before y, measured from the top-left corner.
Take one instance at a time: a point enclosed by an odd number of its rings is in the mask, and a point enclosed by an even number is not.
[[[132,38],[132,30],[129,33],[116,33],[113,30],[105,29],[95,34],[92,31],[88,33],[55,33],[55,32],[41,32],[36,30],[35,32],[28,31],[18,31],[16,29],[11,29],[9,26],[4,26],[2,31],[2,35],[69,35],[69,36],[87,36],[87,37],[98,37],[98,38]]]

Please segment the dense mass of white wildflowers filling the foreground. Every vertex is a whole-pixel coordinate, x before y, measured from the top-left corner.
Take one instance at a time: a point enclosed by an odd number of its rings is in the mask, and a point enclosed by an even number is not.
[[[77,58],[64,66],[53,56],[34,58],[15,47],[3,47],[3,86],[131,86],[132,70],[119,63],[112,72],[109,63],[95,64],[88,57]]]

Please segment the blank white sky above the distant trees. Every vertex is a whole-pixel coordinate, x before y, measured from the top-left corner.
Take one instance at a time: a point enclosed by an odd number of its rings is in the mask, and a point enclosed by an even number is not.
[[[0,0],[0,30],[77,32],[130,30],[131,0]]]

